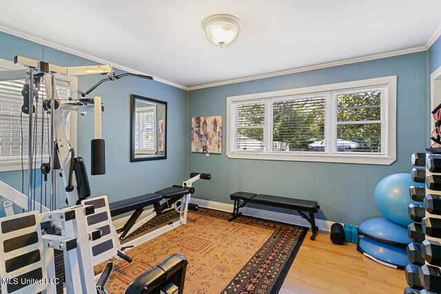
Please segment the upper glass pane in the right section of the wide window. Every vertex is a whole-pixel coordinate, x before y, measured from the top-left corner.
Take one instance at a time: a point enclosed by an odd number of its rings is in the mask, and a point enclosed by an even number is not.
[[[338,121],[365,121],[381,119],[381,91],[363,91],[338,94]]]

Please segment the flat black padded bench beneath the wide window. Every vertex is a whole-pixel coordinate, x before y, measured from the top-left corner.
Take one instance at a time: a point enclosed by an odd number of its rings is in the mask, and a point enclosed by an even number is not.
[[[300,214],[302,218],[305,218],[305,220],[307,220],[309,224],[311,224],[311,240],[316,239],[318,227],[316,227],[314,213],[317,213],[318,209],[320,209],[320,206],[316,201],[247,192],[232,193],[229,197],[234,200],[233,216],[232,218],[229,218],[229,222],[231,222],[238,216],[242,216],[242,213],[239,212],[239,209],[244,207],[247,203],[268,205],[271,207],[280,207],[285,209],[294,209]],[[304,213],[304,211],[309,213],[309,217]]]

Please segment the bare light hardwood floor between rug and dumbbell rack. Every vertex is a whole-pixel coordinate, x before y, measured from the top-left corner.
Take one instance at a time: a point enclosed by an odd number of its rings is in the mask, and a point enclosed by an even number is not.
[[[328,232],[320,231],[316,241],[310,236],[309,231],[280,294],[402,294],[407,286],[404,271],[366,258],[356,244],[332,244]]]

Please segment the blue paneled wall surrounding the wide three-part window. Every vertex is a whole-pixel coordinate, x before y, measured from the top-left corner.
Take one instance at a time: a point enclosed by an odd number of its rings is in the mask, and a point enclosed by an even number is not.
[[[317,200],[321,207],[319,218],[325,220],[360,224],[362,220],[380,216],[373,201],[377,182],[389,174],[409,172],[411,154],[427,147],[428,72],[428,53],[418,52],[190,91],[188,119],[215,115],[224,118],[223,154],[207,157],[189,153],[189,171],[212,174],[211,181],[198,183],[195,197],[231,204],[230,193],[254,191]],[[225,155],[227,96],[393,75],[398,76],[398,159],[392,165],[241,160]]]

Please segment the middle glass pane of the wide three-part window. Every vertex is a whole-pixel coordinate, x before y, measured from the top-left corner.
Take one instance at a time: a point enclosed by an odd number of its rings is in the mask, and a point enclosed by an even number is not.
[[[272,131],[273,151],[325,151],[325,98],[274,102]]]

